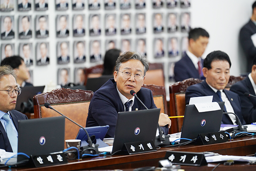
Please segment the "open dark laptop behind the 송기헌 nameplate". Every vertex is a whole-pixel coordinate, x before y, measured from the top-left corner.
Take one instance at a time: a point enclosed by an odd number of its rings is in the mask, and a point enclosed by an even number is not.
[[[116,122],[116,131],[112,150],[109,151],[99,148],[99,151],[114,153],[125,149],[124,143],[140,142],[153,140],[155,141],[157,124],[160,109],[134,110],[130,112],[119,112]],[[140,128],[140,133],[135,134],[135,130]]]

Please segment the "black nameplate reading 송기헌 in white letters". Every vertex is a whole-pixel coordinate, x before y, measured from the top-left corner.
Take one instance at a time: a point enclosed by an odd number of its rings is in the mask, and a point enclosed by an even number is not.
[[[139,154],[151,151],[157,151],[153,140],[141,141],[141,142],[128,142],[125,143],[125,147],[129,154]]]

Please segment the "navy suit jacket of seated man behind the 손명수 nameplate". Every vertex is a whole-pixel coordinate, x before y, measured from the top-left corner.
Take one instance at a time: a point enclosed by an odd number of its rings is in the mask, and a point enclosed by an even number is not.
[[[229,99],[231,106],[233,107],[234,113],[239,117],[241,124],[245,124],[245,121],[243,119],[243,116],[241,114],[241,106],[240,106],[240,98],[238,94],[223,90],[223,92],[226,94],[227,99]],[[189,86],[186,90],[186,104],[189,104],[189,100],[191,97],[200,97],[200,96],[213,96],[212,101],[219,102],[221,99],[215,93],[211,87],[206,83],[206,81],[203,81],[198,84],[194,84],[192,86]],[[224,114],[222,116],[222,122],[224,124],[231,124],[233,125],[233,122],[231,121],[230,117],[227,114]]]

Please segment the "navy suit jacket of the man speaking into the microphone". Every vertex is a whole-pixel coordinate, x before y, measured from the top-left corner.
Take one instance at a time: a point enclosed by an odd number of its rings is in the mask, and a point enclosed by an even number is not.
[[[154,104],[151,90],[142,87],[137,96],[148,109],[157,108]],[[131,110],[136,108],[138,110],[145,110],[145,107],[135,98]],[[124,112],[124,105],[116,90],[116,82],[114,79],[109,79],[94,93],[90,101],[86,127],[109,125],[106,137],[114,137],[118,112]],[[168,128],[163,127],[163,130],[165,133],[168,133]]]

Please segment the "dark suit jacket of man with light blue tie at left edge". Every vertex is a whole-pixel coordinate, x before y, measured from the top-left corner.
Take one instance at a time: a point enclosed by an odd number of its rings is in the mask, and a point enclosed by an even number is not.
[[[12,121],[17,130],[18,130],[18,120],[28,119],[26,115],[24,115],[23,113],[20,113],[17,110],[11,110],[10,115],[12,116]],[[9,142],[7,133],[4,130],[1,122],[0,122],[0,149],[4,149],[5,151],[12,152],[12,146]]]

